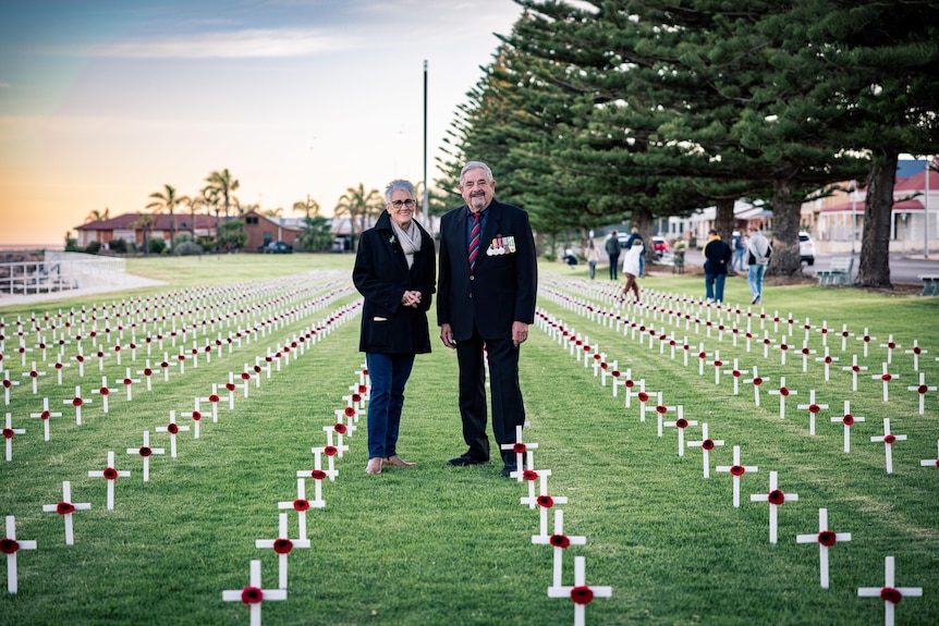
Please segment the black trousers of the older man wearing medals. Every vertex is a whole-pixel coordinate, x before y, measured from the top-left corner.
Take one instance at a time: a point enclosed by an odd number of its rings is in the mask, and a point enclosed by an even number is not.
[[[514,443],[515,427],[525,424],[525,406],[519,386],[519,347],[512,343],[511,337],[484,341],[474,329],[470,340],[456,342],[456,361],[460,366],[463,441],[470,446],[466,454],[476,461],[489,461],[489,438],[486,434],[487,356],[489,389],[492,394],[492,434],[496,443]],[[510,451],[510,454],[514,453]],[[505,458],[501,450],[497,450],[497,455]]]

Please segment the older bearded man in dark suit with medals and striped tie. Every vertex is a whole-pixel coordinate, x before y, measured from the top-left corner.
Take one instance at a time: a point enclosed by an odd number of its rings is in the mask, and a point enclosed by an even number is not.
[[[468,446],[448,462],[456,467],[489,461],[487,357],[497,445],[514,443],[515,427],[525,422],[519,346],[535,321],[535,238],[528,214],[495,200],[495,191],[489,167],[470,161],[460,173],[460,194],[466,204],[440,220],[437,323],[443,345],[456,348],[460,416]],[[515,453],[499,450],[502,476],[508,477],[519,470]]]

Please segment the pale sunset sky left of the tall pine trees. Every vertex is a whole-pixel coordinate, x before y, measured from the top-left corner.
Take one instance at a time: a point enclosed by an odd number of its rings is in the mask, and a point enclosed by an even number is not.
[[[2,0],[0,248],[59,246],[93,211],[242,204],[428,179],[458,105],[522,14],[512,0]],[[473,156],[485,160],[485,155]],[[74,234],[74,232],[73,232]]]

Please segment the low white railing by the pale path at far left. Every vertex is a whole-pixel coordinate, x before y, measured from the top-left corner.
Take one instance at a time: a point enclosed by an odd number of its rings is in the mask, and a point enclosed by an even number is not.
[[[121,282],[124,259],[47,251],[41,261],[0,263],[0,296],[46,294]]]

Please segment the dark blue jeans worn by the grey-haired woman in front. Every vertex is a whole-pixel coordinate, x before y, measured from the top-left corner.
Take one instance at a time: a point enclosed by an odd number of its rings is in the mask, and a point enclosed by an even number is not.
[[[365,355],[371,388],[368,394],[368,458],[398,454],[398,429],[404,406],[404,385],[414,366],[413,354]]]

